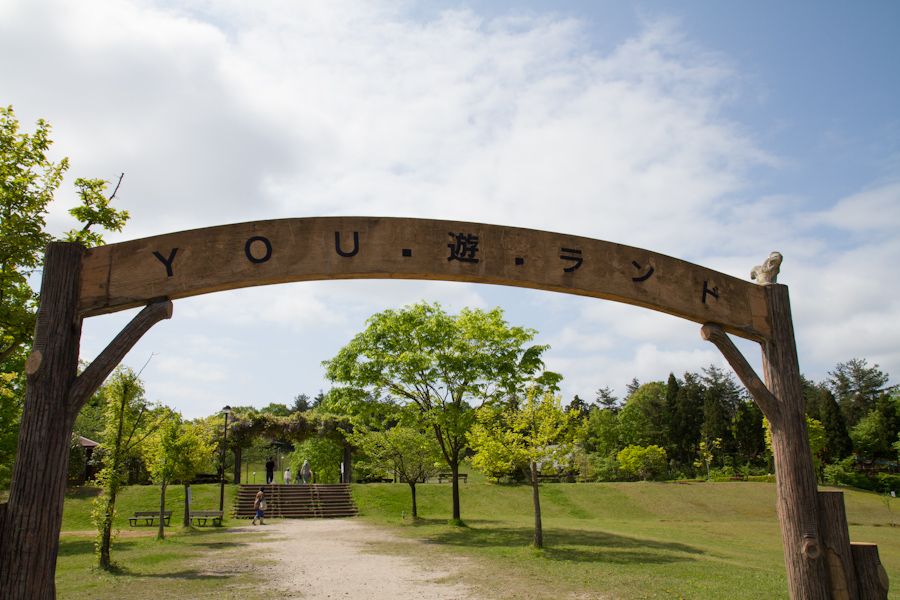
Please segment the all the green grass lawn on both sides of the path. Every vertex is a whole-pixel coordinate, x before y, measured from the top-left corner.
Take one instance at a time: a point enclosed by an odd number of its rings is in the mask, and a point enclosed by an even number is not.
[[[473,474],[474,475],[474,474]],[[461,487],[466,527],[447,525],[450,486],[419,486],[421,519],[409,518],[403,484],[354,486],[361,517],[401,536],[419,539],[415,558],[440,566],[459,559],[463,581],[487,598],[784,598],[786,583],[774,486],[767,483],[546,484],[541,500],[547,548],[530,548],[532,512],[526,486],[494,485],[472,476]],[[216,485],[194,486],[194,506],[218,508]],[[226,511],[235,488],[226,487]],[[57,563],[58,597],[111,599],[265,598],[239,525],[183,530],[180,487],[170,489],[168,538],[154,527],[129,527],[135,510],[158,505],[158,489],[127,488],[121,496],[113,547],[114,573],[93,568],[90,501],[94,492],[66,498]],[[896,502],[896,501],[895,501]],[[875,542],[900,598],[900,506],[846,492],[854,541]],[[374,551],[410,553],[408,544]]]

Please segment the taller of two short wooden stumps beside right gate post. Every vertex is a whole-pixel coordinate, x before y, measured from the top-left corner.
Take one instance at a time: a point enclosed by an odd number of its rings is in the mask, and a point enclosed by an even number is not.
[[[819,536],[834,600],[858,600],[844,492],[819,492]]]

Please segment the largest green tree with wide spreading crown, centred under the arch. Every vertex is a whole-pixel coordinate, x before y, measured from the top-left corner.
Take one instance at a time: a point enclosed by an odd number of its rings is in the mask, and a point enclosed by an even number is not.
[[[369,318],[329,361],[332,381],[385,392],[418,407],[453,474],[453,521],[460,521],[459,463],[474,421],[472,404],[510,395],[543,366],[546,346],[531,346],[535,331],[511,327],[499,308],[447,314],[419,303]]]

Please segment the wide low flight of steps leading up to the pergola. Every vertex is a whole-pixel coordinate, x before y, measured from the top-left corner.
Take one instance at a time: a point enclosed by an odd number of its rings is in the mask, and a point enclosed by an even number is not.
[[[289,519],[327,519],[355,517],[356,505],[346,483],[310,485],[241,484],[234,505],[234,516],[253,518],[253,501],[262,488],[266,494],[266,517]]]

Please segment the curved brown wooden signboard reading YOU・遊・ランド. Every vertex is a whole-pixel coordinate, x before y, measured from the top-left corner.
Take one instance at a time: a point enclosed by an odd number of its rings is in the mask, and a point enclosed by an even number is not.
[[[365,278],[535,288],[718,323],[749,339],[771,331],[760,286],[670,256],[547,231],[383,217],[238,223],[93,248],[79,310],[90,316],[254,285]]]

